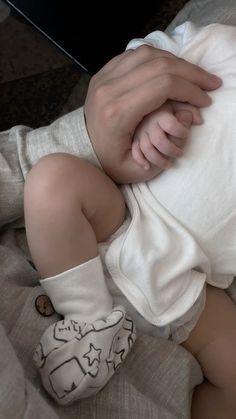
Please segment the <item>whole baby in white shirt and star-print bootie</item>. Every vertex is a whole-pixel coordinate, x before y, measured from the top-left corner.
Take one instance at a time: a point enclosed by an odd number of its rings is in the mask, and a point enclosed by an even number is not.
[[[204,124],[197,109],[168,102],[137,127],[131,153],[146,182],[118,187],[62,153],[43,158],[26,180],[29,247],[63,316],[35,361],[61,404],[111,378],[135,340],[129,312],[138,330],[182,344],[199,361],[206,381],[194,392],[193,418],[234,417],[236,308],[223,289],[236,273],[235,40],[232,26],[186,22],[171,36],[157,31],[128,45],[169,50],[223,80]],[[168,170],[149,179],[152,165]]]

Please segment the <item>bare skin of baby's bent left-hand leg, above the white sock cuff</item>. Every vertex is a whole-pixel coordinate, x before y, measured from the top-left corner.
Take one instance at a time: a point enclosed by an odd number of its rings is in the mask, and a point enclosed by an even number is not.
[[[56,275],[98,254],[123,222],[125,204],[114,182],[78,157],[43,157],[26,178],[27,239],[41,277]]]

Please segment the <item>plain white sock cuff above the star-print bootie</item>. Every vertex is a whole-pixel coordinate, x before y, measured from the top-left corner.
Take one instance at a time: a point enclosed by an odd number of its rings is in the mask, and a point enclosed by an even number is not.
[[[91,322],[112,310],[100,256],[40,281],[52,304],[65,320]]]

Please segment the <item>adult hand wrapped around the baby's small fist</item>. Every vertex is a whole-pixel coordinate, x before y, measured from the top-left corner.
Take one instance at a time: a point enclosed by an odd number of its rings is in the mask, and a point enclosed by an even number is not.
[[[221,80],[173,54],[142,45],[109,61],[92,77],[84,112],[88,134],[105,172],[118,183],[151,179],[131,154],[136,127],[168,99],[209,106],[206,91]]]

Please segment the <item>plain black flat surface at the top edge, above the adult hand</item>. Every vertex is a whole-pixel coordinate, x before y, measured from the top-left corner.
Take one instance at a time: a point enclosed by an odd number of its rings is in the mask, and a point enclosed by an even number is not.
[[[142,36],[145,23],[158,14],[162,1],[124,0],[88,2],[78,0],[7,0],[90,74],[124,51],[128,41]],[[105,3],[105,4],[104,4]]]

